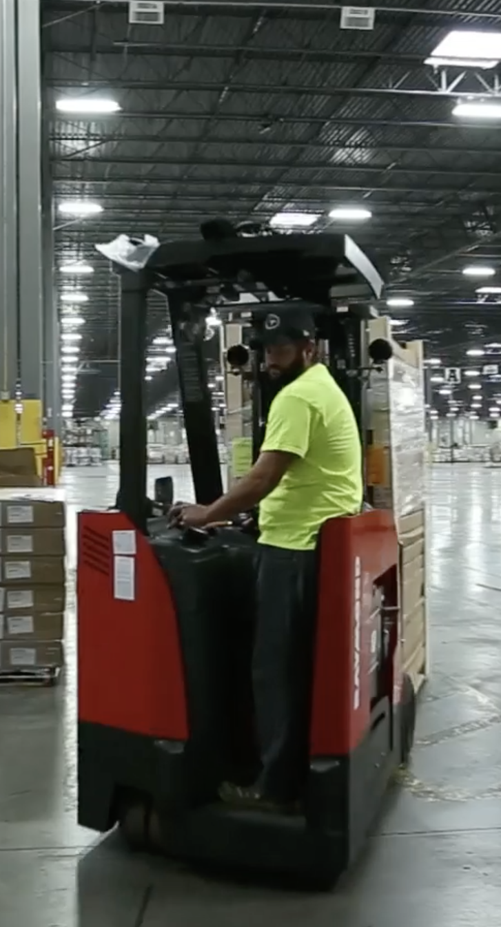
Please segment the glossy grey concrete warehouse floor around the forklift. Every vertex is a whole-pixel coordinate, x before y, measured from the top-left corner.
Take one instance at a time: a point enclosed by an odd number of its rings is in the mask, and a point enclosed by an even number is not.
[[[176,496],[187,498],[186,468],[172,470]],[[108,505],[116,470],[69,471],[66,488],[72,506]],[[412,768],[336,893],[213,881],[165,860],[130,857],[116,838],[99,844],[76,826],[72,613],[65,685],[0,689],[2,924],[498,927],[501,470],[434,469],[429,551],[432,677]]]

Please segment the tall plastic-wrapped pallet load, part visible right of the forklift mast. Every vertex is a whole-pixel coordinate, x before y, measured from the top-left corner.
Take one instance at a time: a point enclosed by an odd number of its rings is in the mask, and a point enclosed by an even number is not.
[[[404,668],[416,692],[429,673],[426,601],[426,471],[423,354],[420,341],[398,344],[389,320],[369,324],[370,339],[392,343],[392,360],[371,374],[367,483],[376,508],[391,508],[399,543],[398,587]]]

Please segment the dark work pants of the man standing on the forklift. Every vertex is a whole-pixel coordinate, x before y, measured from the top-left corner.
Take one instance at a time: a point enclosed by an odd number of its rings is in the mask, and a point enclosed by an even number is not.
[[[315,551],[261,545],[252,679],[262,772],[276,801],[302,793],[308,768],[316,604]]]

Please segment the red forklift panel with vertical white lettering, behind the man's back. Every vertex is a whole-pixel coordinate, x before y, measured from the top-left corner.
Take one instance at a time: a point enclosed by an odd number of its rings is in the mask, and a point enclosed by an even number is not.
[[[345,756],[369,727],[373,586],[397,558],[390,512],[332,519],[322,530],[311,756]]]

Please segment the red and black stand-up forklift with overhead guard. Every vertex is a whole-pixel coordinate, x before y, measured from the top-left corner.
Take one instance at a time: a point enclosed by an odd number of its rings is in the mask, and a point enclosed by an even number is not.
[[[331,885],[363,846],[413,743],[393,514],[366,504],[321,531],[310,758],[298,813],[225,804],[221,784],[248,784],[256,771],[256,538],[243,519],[173,527],[165,506],[147,498],[148,294],[166,297],[195,497],[209,504],[223,491],[204,350],[213,307],[250,326],[250,348],[230,363],[251,372],[254,455],[271,400],[254,336],[271,295],[280,311],[315,313],[324,362],[367,446],[371,366],[392,353],[367,337],[382,280],[345,235],[249,234],[226,222],[202,225],[194,241],[130,241],[114,268],[122,286],[120,491],[116,509],[79,515],[79,822],[97,832],[119,825],[132,846],[177,859]]]

